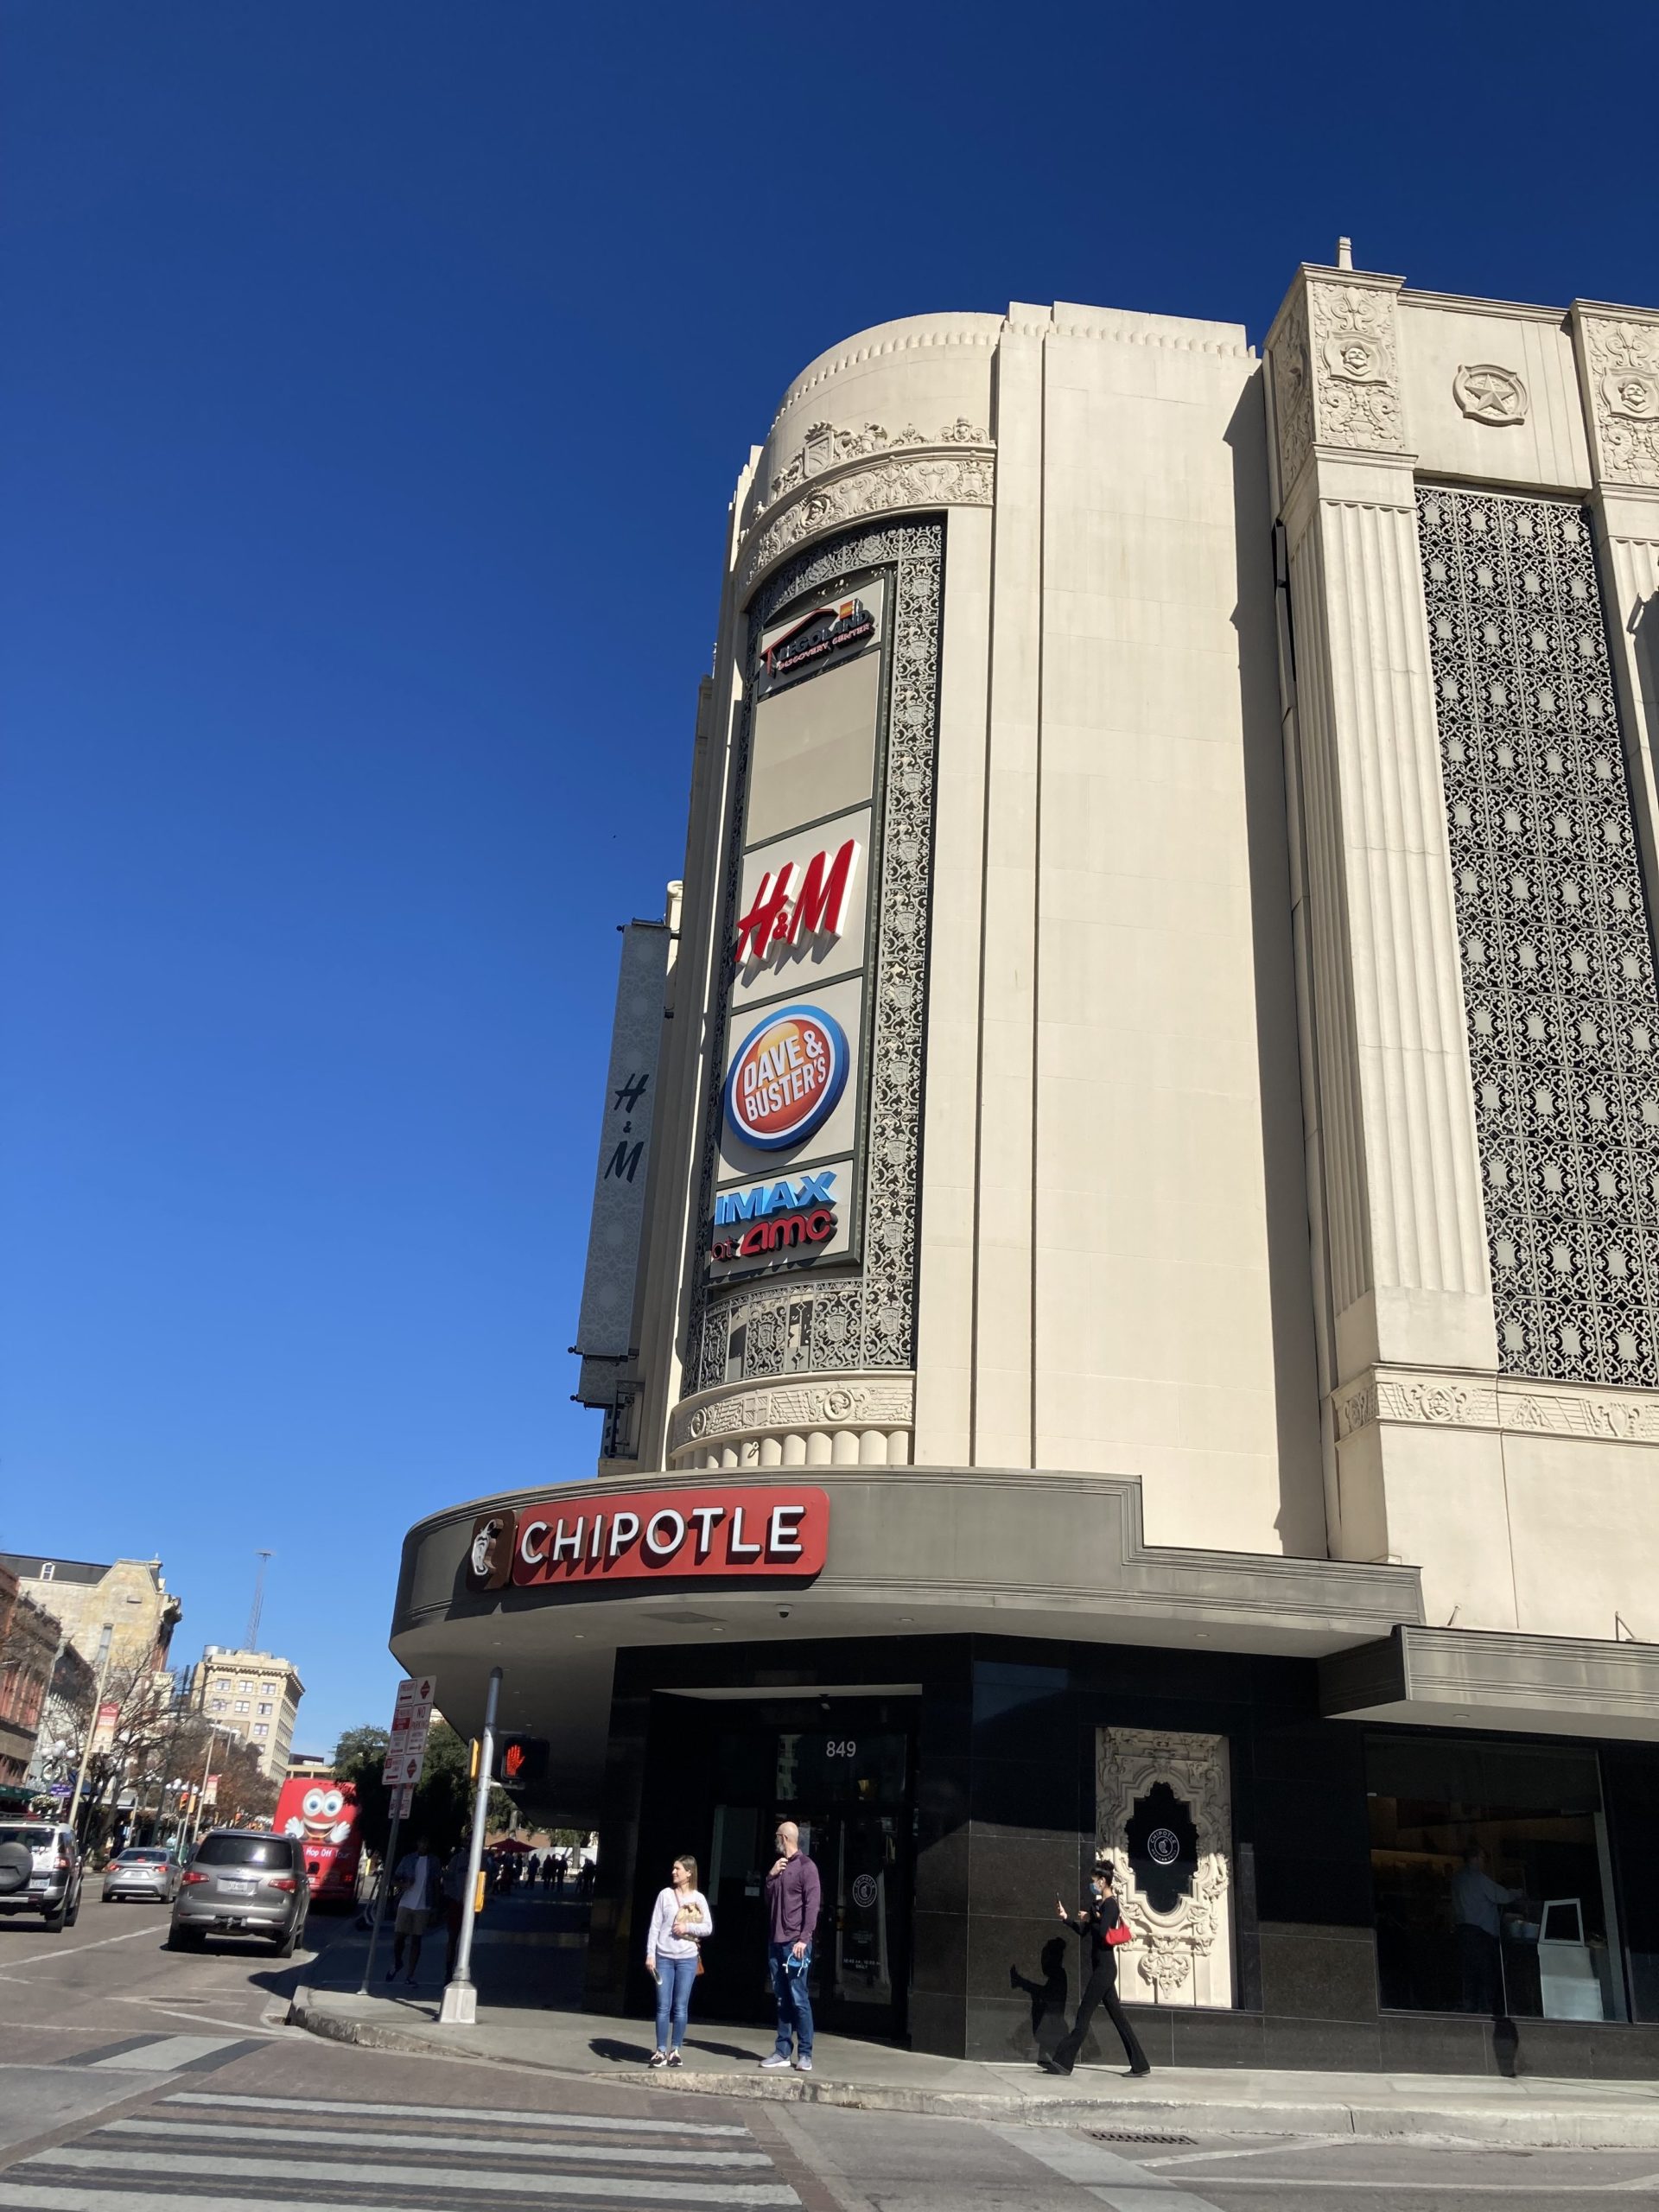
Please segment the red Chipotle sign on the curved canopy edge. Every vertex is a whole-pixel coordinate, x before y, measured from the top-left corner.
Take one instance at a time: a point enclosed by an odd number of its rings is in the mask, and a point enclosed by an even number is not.
[[[812,1582],[830,1500],[814,1489],[615,1491],[498,1506],[473,1522],[469,1590],[588,1582]]]

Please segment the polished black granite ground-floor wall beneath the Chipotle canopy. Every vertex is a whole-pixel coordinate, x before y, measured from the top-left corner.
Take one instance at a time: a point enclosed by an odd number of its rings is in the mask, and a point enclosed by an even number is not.
[[[1323,1721],[1312,1661],[995,1637],[653,1650],[617,1657],[591,2011],[648,2011],[635,1929],[657,1863],[699,1803],[701,1736],[732,1705],[664,1701],[692,1683],[770,1688],[920,1681],[914,1728],[914,1916],[905,2028],[918,2051],[1035,2062],[1079,1944],[1055,1953],[1095,1849],[1095,1730],[1223,1734],[1234,1807],[1237,2004],[1133,2004],[1152,2064],[1498,2073],[1491,2022],[1383,2013],[1371,1933],[1365,1730]],[[1608,1825],[1637,2013],[1659,2015],[1659,1752],[1604,1747]],[[661,1834],[659,1834],[661,1832]],[[641,1856],[641,1836],[646,1851]],[[692,1847],[706,1849],[706,1838]],[[1064,1931],[1060,1931],[1064,1933]],[[1018,1982],[1015,1982],[1018,1975]],[[1135,1973],[1124,1995],[1133,2000]],[[757,1978],[759,1989],[759,1978]],[[763,2004],[757,1995],[757,2020]],[[1104,2037],[1099,2033],[1104,2028]],[[1108,2022],[1084,2064],[1121,2066]],[[1659,2024],[1520,2022],[1531,2073],[1659,2075]]]

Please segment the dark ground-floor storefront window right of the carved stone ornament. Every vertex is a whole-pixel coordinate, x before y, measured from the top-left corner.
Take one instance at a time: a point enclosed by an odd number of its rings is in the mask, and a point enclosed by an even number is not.
[[[1383,2004],[1626,2020],[1595,1752],[1367,1741]]]

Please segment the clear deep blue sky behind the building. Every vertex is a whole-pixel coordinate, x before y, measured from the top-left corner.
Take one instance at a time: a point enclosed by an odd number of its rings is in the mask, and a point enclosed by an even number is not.
[[[0,0],[0,1546],[303,1745],[568,1402],[726,500],[933,307],[1659,303],[1650,15]]]

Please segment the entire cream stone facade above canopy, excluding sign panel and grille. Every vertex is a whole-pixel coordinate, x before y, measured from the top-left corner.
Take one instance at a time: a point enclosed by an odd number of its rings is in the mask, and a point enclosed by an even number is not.
[[[1659,1637],[1650,1400],[1500,1367],[1416,524],[1422,480],[1588,502],[1652,867],[1659,469],[1606,363],[1637,389],[1657,332],[1305,270],[1267,374],[1234,325],[1015,305],[796,380],[732,511],[675,1002],[719,991],[750,597],[942,511],[914,1365],[688,1371],[719,1037],[684,1022],[608,1471],[1133,1467],[1152,1540]]]

